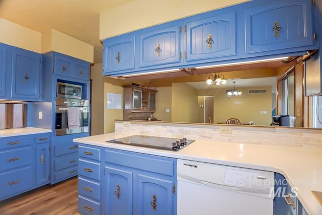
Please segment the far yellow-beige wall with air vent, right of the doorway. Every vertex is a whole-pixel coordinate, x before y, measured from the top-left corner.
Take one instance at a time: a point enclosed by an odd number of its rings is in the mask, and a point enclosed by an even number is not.
[[[254,121],[255,125],[271,124],[272,93],[271,87],[267,93],[248,94],[249,89],[258,88],[238,88],[243,92],[240,96],[227,98],[227,89],[198,90],[198,95],[214,96],[214,122],[225,122],[228,118],[237,118],[241,122]],[[267,111],[261,114],[260,111]]]

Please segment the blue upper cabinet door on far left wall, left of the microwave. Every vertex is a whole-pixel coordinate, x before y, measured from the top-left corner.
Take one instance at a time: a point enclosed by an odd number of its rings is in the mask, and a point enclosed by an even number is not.
[[[41,54],[13,48],[12,89],[13,99],[39,100]]]

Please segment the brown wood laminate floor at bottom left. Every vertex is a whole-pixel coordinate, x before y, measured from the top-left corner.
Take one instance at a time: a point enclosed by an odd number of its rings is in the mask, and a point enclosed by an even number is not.
[[[1,215],[80,215],[77,177],[0,201]]]

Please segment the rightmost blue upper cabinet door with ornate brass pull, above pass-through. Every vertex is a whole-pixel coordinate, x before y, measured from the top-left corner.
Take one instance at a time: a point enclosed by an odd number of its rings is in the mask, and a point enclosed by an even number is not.
[[[289,53],[314,44],[311,0],[276,1],[245,10],[246,53]],[[303,48],[304,47],[304,48]],[[274,52],[275,53],[275,52]]]

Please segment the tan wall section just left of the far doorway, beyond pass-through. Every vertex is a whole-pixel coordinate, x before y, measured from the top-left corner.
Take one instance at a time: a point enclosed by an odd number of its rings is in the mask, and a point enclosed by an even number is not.
[[[198,121],[197,90],[185,83],[172,85],[172,122],[197,122]]]

